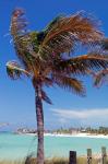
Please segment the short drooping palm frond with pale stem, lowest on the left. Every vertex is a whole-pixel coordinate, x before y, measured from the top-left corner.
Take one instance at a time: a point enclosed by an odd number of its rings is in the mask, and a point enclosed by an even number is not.
[[[27,77],[32,75],[29,74],[29,72],[21,68],[21,66],[16,61],[7,62],[7,72],[12,80],[21,78],[22,74],[25,74]]]

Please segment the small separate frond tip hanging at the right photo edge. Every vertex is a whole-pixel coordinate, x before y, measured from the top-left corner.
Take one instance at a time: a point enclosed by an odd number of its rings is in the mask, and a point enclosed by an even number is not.
[[[103,83],[108,83],[108,69],[101,70],[95,75],[95,86],[100,86]]]

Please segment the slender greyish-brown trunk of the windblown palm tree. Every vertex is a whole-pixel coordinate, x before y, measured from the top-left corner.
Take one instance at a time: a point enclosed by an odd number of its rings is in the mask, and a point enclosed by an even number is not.
[[[35,103],[36,103],[36,117],[37,117],[37,164],[44,164],[44,113],[41,101],[41,86],[35,87]]]

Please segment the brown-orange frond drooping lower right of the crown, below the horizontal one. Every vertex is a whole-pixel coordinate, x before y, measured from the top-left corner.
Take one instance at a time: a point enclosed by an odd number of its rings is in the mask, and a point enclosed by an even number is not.
[[[53,74],[53,82],[64,90],[74,92],[81,96],[85,95],[85,87],[82,84],[82,81],[79,81],[77,79]]]

